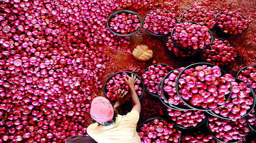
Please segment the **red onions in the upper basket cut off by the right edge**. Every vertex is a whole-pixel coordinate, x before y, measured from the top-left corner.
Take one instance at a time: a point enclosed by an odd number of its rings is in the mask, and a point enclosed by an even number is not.
[[[241,70],[238,79],[246,82],[256,92],[256,66],[248,66]]]

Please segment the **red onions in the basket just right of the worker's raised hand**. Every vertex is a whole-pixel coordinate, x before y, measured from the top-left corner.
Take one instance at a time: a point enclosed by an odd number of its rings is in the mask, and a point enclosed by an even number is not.
[[[161,64],[149,66],[141,75],[143,84],[145,85],[147,91],[152,94],[157,94],[156,92],[158,84],[165,77],[165,75],[173,69],[173,67]]]

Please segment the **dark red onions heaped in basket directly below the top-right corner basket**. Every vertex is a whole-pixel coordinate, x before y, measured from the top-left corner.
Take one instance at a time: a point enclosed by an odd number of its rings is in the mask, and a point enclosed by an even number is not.
[[[211,45],[201,52],[202,59],[217,66],[226,66],[235,61],[237,52],[229,41],[213,39]]]

